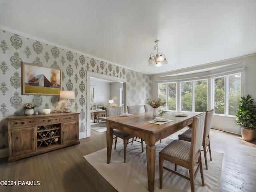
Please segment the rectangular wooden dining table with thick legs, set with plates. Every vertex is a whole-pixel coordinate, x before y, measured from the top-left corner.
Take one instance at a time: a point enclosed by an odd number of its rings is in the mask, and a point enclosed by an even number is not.
[[[181,130],[182,128],[192,125],[193,117],[200,113],[186,112],[188,116],[176,116],[177,112],[166,112],[160,116],[168,118],[172,122],[165,124],[152,124],[148,123],[154,120],[152,112],[144,112],[132,114],[132,116],[110,116],[99,117],[101,120],[106,121],[106,138],[107,138],[107,163],[111,160],[111,151],[113,144],[113,129],[122,130],[146,142],[146,158],[148,170],[148,191],[154,191],[155,182],[155,162],[156,162],[156,146],[155,143],[167,136]],[[178,138],[177,138],[178,139]]]

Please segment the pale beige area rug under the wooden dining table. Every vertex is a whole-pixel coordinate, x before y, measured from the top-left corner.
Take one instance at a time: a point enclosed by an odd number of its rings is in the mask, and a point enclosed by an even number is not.
[[[166,138],[170,140],[169,138]],[[165,140],[166,140],[165,139]],[[170,140],[171,142],[172,140]],[[166,146],[166,142],[156,143],[155,192],[187,192],[190,182],[180,176],[164,170],[163,188],[159,188],[158,153]],[[202,152],[203,153],[203,152]],[[209,155],[209,154],[208,154]],[[112,149],[111,163],[107,164],[106,148],[84,156],[84,158],[116,189],[118,192],[147,192],[148,177],[146,164],[146,149],[141,152],[141,144],[128,145],[126,163],[124,163],[123,143],[118,143],[116,150]],[[210,159],[210,158],[209,158]],[[205,169],[202,155],[204,183],[202,186],[200,171],[195,179],[196,192],[218,192],[222,169],[223,154],[212,151],[212,161],[208,160],[208,170]],[[164,161],[164,166],[174,169],[174,164]],[[180,173],[189,176],[188,170],[178,166]]]

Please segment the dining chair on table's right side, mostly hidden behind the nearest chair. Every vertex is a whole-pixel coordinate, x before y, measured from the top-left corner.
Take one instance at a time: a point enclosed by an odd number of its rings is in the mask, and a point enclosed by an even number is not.
[[[211,146],[210,146],[210,129],[212,124],[212,117],[213,117],[213,109],[210,111],[206,111],[205,122],[204,122],[204,136],[203,136],[203,142],[202,142],[206,169],[208,169],[208,165],[207,165],[208,151],[210,154],[210,160],[212,160],[212,153],[211,153]],[[178,137],[180,140],[185,140],[190,142],[191,136],[192,136],[192,129],[188,129],[184,133],[180,134]]]

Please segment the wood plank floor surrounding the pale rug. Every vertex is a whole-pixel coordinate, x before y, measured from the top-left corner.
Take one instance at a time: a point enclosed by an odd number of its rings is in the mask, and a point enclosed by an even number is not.
[[[210,142],[212,151],[224,153],[220,192],[255,192],[255,138],[253,142],[246,142],[241,136],[212,129]],[[16,181],[16,185],[0,186],[0,192],[115,192],[83,158],[105,147],[106,133],[92,130],[91,137],[81,139],[75,146],[9,164],[7,158],[2,158],[0,181]],[[18,181],[35,181],[35,185],[18,185]],[[40,185],[37,186],[36,181]]]

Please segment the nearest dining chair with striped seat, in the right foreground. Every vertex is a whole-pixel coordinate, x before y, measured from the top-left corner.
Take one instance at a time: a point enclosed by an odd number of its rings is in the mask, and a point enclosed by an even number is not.
[[[201,145],[203,140],[205,112],[193,118],[193,128],[191,142],[184,140],[174,140],[159,152],[159,174],[160,189],[163,183],[163,169],[168,170],[182,178],[190,180],[191,191],[195,191],[195,177],[200,168],[202,185],[204,186],[204,174],[201,160]],[[175,169],[164,167],[164,160],[175,164]],[[198,166],[194,171],[194,167]],[[189,177],[177,172],[177,165],[189,170]]]

